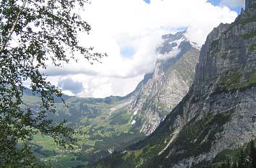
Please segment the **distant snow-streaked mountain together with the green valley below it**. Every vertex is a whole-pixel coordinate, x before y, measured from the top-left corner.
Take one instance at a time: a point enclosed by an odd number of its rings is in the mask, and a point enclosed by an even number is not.
[[[69,108],[56,99],[57,112],[48,118],[56,122],[66,119],[67,125],[85,135],[77,136],[74,151],[58,149],[51,138],[36,135],[33,144],[38,157],[54,167],[75,167],[96,162],[149,136],[187,94],[194,79],[200,47],[189,42],[185,33],[163,35],[163,43],[155,50],[158,60],[153,72],[145,74],[126,97],[65,95]],[[40,105],[36,96],[25,91],[24,100],[34,109]]]

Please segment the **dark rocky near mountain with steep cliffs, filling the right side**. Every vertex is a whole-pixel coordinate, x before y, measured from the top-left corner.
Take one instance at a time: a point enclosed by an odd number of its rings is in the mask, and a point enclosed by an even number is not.
[[[210,32],[192,87],[158,128],[93,167],[216,167],[255,138],[256,1],[246,3],[232,24]]]

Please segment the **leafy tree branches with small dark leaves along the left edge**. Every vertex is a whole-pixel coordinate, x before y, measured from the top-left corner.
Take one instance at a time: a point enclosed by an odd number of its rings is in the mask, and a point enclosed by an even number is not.
[[[56,112],[54,98],[61,91],[46,81],[41,69],[48,63],[61,66],[76,54],[92,62],[103,55],[82,47],[77,32],[88,33],[75,8],[87,0],[3,0],[0,2],[0,164],[29,163],[28,141],[37,131],[54,138],[60,146],[74,142],[65,121],[54,123],[47,115]],[[23,102],[24,81],[40,95],[40,107]],[[22,144],[19,148],[18,143]],[[33,158],[30,158],[33,161]],[[14,166],[13,166],[14,167]],[[23,167],[35,167],[33,163]]]

